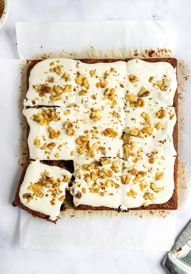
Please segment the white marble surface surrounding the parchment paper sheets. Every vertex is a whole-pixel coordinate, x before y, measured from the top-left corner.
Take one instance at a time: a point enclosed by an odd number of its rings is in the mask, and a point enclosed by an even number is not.
[[[179,37],[176,57],[188,60],[191,59],[190,10],[189,0],[10,0],[10,14],[0,31],[0,58],[19,59],[15,45],[17,21],[173,20]],[[11,204],[0,210],[3,220],[0,222],[0,273],[167,273],[162,266],[165,251],[21,249],[20,210]],[[189,221],[191,211],[183,211],[183,215],[186,216],[181,222],[179,213],[177,236]]]

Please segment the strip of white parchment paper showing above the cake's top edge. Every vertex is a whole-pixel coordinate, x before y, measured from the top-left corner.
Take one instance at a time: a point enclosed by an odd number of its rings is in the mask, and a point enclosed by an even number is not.
[[[21,59],[173,57],[176,38],[166,21],[18,22],[16,35]]]

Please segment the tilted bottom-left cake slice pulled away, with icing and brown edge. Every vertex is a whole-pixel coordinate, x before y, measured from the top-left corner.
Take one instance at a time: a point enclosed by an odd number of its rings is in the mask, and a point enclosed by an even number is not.
[[[72,174],[58,166],[28,161],[13,206],[56,223]]]

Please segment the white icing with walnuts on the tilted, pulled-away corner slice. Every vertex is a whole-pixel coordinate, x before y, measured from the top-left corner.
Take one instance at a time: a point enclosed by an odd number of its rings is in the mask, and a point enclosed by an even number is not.
[[[47,182],[40,181],[42,174],[44,174],[43,179],[48,180]],[[72,174],[63,168],[44,165],[39,161],[31,161],[19,191],[21,203],[31,210],[49,215],[50,219],[54,221],[59,215],[71,176]],[[52,180],[51,183],[49,183],[50,180]],[[44,185],[42,185],[43,183]],[[34,194],[33,185],[38,185],[38,187],[41,185],[42,194],[40,196]],[[31,199],[24,198],[29,194],[33,196]]]

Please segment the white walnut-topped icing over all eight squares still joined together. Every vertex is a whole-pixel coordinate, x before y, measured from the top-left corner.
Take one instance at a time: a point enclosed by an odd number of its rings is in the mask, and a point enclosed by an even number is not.
[[[41,61],[30,72],[24,105],[43,108],[23,110],[30,158],[73,159],[75,205],[125,210],[167,202],[174,189],[176,88],[176,68],[167,62]],[[97,164],[102,158],[111,163]]]

